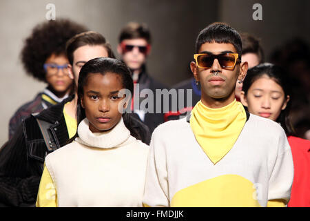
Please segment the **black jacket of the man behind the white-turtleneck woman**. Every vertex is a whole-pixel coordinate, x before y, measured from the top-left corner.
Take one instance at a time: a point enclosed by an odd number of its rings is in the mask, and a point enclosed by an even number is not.
[[[0,206],[34,206],[43,172],[45,156],[50,153],[43,140],[37,119],[50,122],[56,148],[68,144],[69,135],[63,116],[68,97],[39,115],[25,119],[11,140],[0,150]],[[150,133],[145,124],[132,115],[130,125],[139,131],[142,141],[149,144]]]

